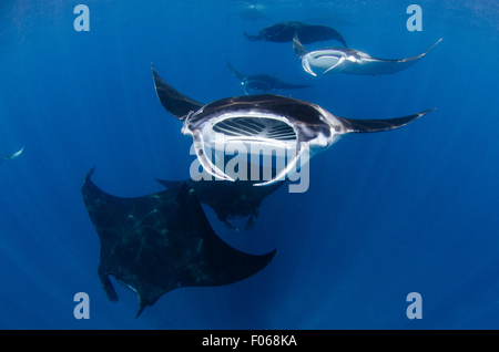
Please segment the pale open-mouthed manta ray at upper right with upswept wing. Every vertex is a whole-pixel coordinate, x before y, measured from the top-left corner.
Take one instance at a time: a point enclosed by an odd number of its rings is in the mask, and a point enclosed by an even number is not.
[[[303,69],[312,75],[317,74],[312,71],[310,66],[324,70],[323,74],[349,73],[381,75],[396,73],[410,68],[429,53],[440,41],[441,39],[419,55],[395,60],[377,59],[365,52],[346,48],[329,48],[308,52],[302,45],[297,33],[293,38],[293,49],[302,60]]]

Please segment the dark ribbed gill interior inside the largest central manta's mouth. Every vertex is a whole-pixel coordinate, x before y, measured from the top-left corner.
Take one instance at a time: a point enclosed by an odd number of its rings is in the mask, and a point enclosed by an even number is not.
[[[285,122],[267,117],[226,118],[213,125],[213,131],[228,137],[296,141],[296,133]]]

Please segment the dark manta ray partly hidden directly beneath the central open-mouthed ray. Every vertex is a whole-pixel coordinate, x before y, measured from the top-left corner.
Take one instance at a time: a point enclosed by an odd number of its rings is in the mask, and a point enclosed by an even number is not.
[[[184,182],[179,180],[156,180],[167,189],[179,188]],[[259,215],[259,205],[263,199],[279,188],[284,182],[273,184],[268,187],[253,187],[254,182],[251,180],[186,180],[190,188],[201,203],[210,206],[217,215],[218,219],[225,224],[231,230],[237,231],[237,227],[231,224],[230,219],[249,216],[244,227],[245,231],[249,231],[255,225]]]

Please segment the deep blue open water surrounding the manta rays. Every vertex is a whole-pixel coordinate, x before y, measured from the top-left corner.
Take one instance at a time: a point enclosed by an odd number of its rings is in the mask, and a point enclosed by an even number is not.
[[[498,329],[499,8],[490,1],[418,1],[409,32],[400,1],[259,1],[274,21],[315,19],[350,48],[405,58],[386,76],[313,77],[291,43],[249,42],[271,24],[230,17],[234,1],[0,2],[0,328],[2,329]],[[315,48],[329,43],[316,43]],[[333,45],[335,45],[334,43]],[[312,48],[313,45],[310,45]],[[136,294],[96,275],[99,238],[80,188],[118,196],[184,179],[192,138],[157,101],[151,63],[200,102],[244,94],[225,58],[246,74],[316,84],[281,94],[354,118],[437,110],[407,127],[346,136],[310,162],[310,187],[264,200],[249,232],[206,214],[228,244],[277,248],[263,271],[235,284],[184,288],[134,320]],[[73,317],[77,292],[90,319]],[[409,292],[422,319],[409,320]]]

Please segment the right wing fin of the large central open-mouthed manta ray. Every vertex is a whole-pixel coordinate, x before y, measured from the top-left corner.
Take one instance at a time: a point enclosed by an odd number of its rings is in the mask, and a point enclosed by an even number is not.
[[[384,132],[400,128],[416,118],[421,117],[422,115],[434,111],[434,108],[429,108],[427,111],[396,118],[383,118],[383,120],[357,120],[357,118],[346,118],[338,117],[344,127],[346,127],[345,133],[368,133],[368,132]]]

